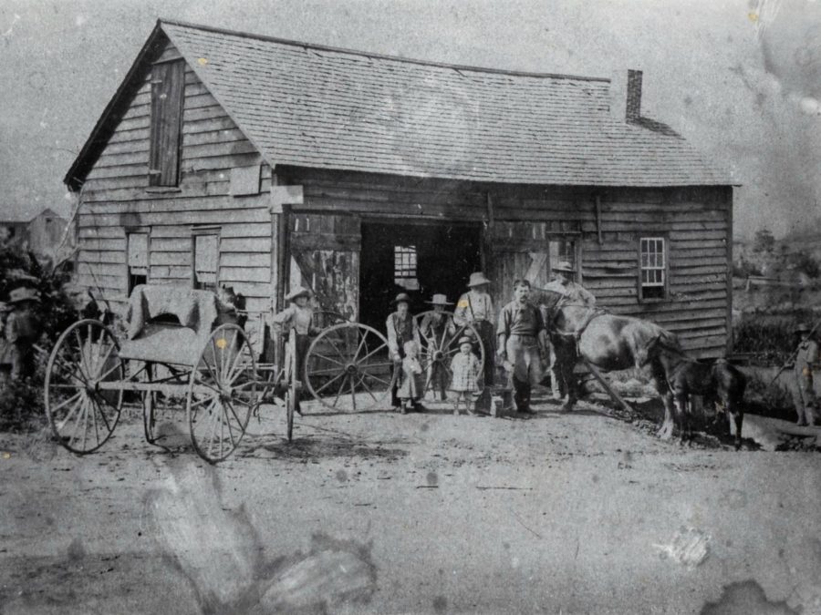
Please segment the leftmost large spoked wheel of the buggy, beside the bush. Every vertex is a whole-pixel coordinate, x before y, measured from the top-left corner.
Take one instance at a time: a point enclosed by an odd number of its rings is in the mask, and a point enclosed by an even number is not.
[[[68,327],[46,368],[46,415],[57,442],[78,455],[103,446],[120,420],[122,391],[99,384],[124,375],[120,343],[108,327],[95,320]]]

